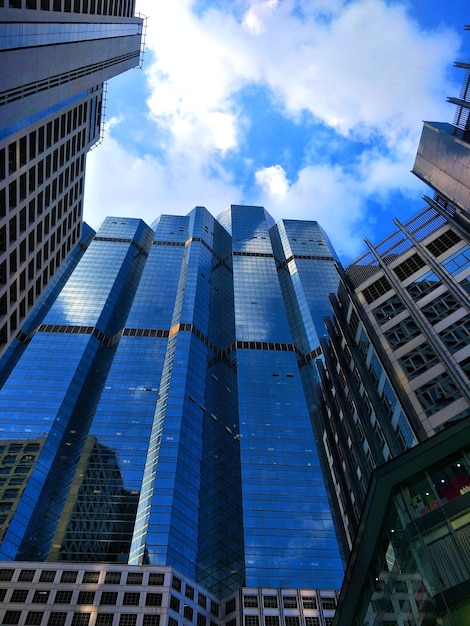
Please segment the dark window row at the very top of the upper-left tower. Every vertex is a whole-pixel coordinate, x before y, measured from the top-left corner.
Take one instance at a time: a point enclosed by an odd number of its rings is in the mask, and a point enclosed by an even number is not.
[[[132,17],[135,0],[6,0],[11,9],[60,11],[65,13],[91,13],[92,15],[116,15]],[[0,7],[5,1],[0,0]]]

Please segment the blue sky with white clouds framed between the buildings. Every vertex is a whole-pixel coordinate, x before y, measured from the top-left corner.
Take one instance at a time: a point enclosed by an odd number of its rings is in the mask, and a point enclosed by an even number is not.
[[[142,69],[108,84],[85,220],[262,205],[347,264],[424,207],[422,121],[452,122],[470,0],[137,0]]]

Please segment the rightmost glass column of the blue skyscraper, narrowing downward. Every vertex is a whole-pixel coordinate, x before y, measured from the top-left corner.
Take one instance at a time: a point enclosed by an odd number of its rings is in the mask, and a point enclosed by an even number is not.
[[[282,263],[279,278],[289,326],[296,347],[307,357],[303,362],[299,360],[298,371],[310,418],[309,467],[315,474],[311,491],[312,502],[316,502],[312,545],[315,546],[314,553],[322,557],[315,560],[318,568],[316,586],[338,588],[342,581],[343,564],[317,447],[321,437],[314,394],[318,372],[314,360],[310,358],[316,358],[320,338],[326,335],[324,318],[331,315],[329,294],[337,291],[339,283],[336,253],[323,229],[314,221],[283,220],[271,229],[271,237]]]

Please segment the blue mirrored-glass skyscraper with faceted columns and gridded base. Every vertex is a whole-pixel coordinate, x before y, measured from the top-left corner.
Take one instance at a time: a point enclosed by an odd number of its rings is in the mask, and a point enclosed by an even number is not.
[[[335,265],[262,207],[105,221],[0,390],[1,623],[331,624]]]

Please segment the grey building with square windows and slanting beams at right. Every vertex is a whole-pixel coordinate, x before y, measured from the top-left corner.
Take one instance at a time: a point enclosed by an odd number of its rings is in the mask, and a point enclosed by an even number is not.
[[[414,173],[435,194],[342,274],[322,416],[351,548],[373,468],[470,414],[468,64],[455,124],[424,124]]]

